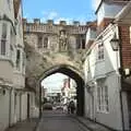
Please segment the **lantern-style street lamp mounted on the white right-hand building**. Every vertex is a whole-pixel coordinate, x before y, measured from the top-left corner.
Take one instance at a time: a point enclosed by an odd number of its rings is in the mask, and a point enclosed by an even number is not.
[[[114,38],[110,40],[110,45],[114,51],[118,51],[119,49],[119,39],[116,36],[116,33],[114,35]]]

